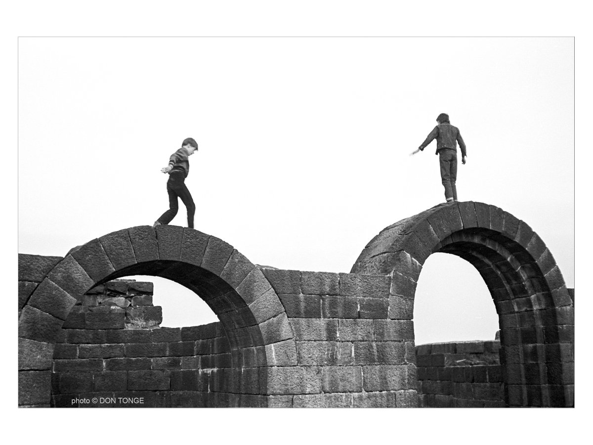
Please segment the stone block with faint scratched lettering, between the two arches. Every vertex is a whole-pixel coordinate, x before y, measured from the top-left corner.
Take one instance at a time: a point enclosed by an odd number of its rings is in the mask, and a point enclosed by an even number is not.
[[[300,366],[352,365],[352,343],[347,342],[297,342],[297,360]]]

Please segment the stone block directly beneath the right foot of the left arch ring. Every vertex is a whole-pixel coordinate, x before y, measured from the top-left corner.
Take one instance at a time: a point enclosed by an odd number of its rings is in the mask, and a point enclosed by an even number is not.
[[[260,391],[266,395],[321,393],[321,368],[314,366],[262,368]]]

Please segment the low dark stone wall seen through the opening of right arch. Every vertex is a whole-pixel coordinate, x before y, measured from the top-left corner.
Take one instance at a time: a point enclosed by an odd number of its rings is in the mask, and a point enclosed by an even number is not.
[[[500,341],[416,347],[420,407],[503,408]]]

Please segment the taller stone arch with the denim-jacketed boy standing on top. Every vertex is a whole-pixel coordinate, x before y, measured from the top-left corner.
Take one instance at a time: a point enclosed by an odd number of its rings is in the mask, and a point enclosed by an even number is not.
[[[573,406],[573,301],[537,233],[493,205],[438,205],[385,227],[351,273],[391,275],[390,317],[412,318],[420,271],[435,252],[466,259],[486,282],[499,315],[506,403]]]

